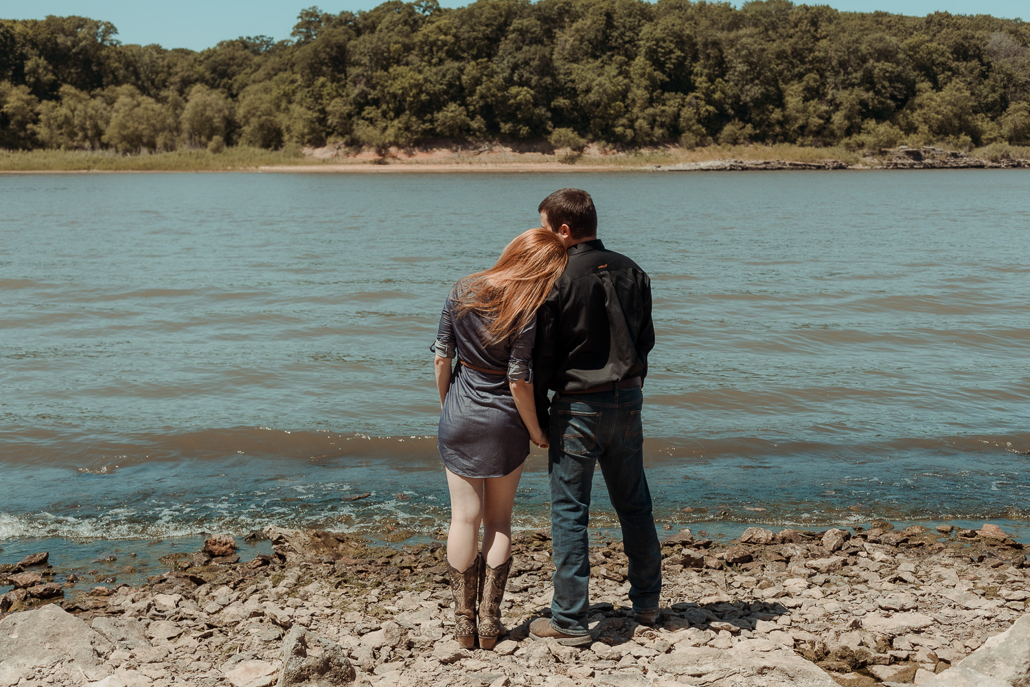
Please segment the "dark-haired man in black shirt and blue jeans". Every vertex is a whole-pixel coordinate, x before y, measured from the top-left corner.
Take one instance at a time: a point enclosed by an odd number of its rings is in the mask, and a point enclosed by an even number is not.
[[[658,613],[661,549],[641,426],[647,355],[654,347],[651,282],[636,263],[597,240],[597,211],[585,191],[556,191],[539,210],[542,226],[564,242],[569,266],[537,315],[537,413],[542,426],[550,425],[557,570],[551,618],[534,620],[529,633],[582,646],[591,642],[587,522],[595,466],[622,525],[637,621],[653,624]],[[551,401],[548,388],[556,391]]]

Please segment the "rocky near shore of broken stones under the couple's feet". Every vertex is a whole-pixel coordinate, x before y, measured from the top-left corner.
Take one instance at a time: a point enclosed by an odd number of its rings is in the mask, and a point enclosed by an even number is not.
[[[729,542],[685,529],[662,543],[654,627],[626,607],[621,545],[599,543],[585,648],[527,639],[553,566],[549,535],[523,534],[494,651],[450,638],[442,542],[266,535],[274,555],[241,561],[212,538],[139,587],[59,584],[45,553],[0,566],[14,586],[0,596],[0,687],[1030,684],[1030,569],[990,524],[752,527]]]

